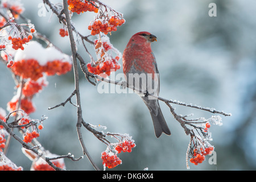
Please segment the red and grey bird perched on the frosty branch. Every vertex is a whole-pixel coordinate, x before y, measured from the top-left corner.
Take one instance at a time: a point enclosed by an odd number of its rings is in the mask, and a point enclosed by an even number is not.
[[[155,135],[159,138],[162,133],[171,135],[171,131],[163,117],[158,100],[148,95],[148,93],[159,95],[159,72],[151,50],[151,42],[155,40],[156,36],[149,32],[134,34],[123,51],[122,60],[127,84],[141,91],[138,94],[150,110]]]

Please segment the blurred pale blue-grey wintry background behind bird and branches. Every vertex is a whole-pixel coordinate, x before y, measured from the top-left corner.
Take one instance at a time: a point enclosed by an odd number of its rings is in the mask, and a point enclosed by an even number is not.
[[[61,38],[59,23],[51,11],[39,16],[42,1],[24,0],[23,13],[31,19],[37,31],[46,35],[56,46],[70,54],[69,39]],[[61,1],[52,1],[61,2]],[[123,52],[130,37],[139,31],[148,31],[158,37],[152,43],[160,72],[160,97],[214,107],[232,117],[222,117],[222,126],[210,127],[216,151],[217,164],[206,160],[192,170],[255,170],[256,169],[256,2],[226,1],[117,1],[104,0],[107,5],[123,14],[126,23],[117,28],[110,37],[115,48]],[[217,16],[208,15],[210,3],[216,3]],[[48,7],[47,7],[48,9]],[[73,15],[77,30],[89,35],[88,25],[94,13]],[[89,51],[92,47],[87,45]],[[78,52],[89,62],[82,46]],[[94,55],[94,54],[93,54]],[[95,56],[95,55],[94,55]],[[122,65],[122,60],[119,60]],[[10,71],[0,67],[0,107],[13,97],[14,81]],[[117,73],[122,73],[122,67]],[[122,165],[112,170],[187,170],[185,155],[189,136],[172,117],[168,107],[160,102],[164,117],[172,132],[171,136],[156,138],[147,107],[136,94],[100,94],[97,87],[80,75],[82,115],[85,122],[104,125],[105,132],[127,133],[137,146],[131,153],[122,153]],[[49,85],[34,98],[35,113],[31,118],[46,115],[39,142],[53,154],[69,152],[79,158],[81,146],[76,132],[76,107],[48,110],[48,107],[65,101],[74,90],[73,71],[64,76],[47,77]],[[75,97],[72,98],[75,103]],[[212,116],[206,111],[173,105],[177,114],[193,113],[193,118]],[[101,130],[101,129],[100,129]],[[105,144],[86,129],[82,129],[84,142],[90,155],[102,167],[101,152]],[[29,170],[31,161],[22,154],[20,144],[14,139],[7,157],[17,166]],[[85,157],[79,162],[65,159],[69,170],[93,170]],[[108,170],[108,169],[107,169]]]

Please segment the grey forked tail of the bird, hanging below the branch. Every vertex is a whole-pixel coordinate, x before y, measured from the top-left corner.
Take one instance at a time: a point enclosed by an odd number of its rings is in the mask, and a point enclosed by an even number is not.
[[[154,129],[155,129],[155,136],[159,138],[162,133],[167,135],[171,135],[171,131],[166,123],[166,120],[163,117],[163,113],[160,109],[158,100],[144,100],[145,104],[147,105],[148,109],[150,110],[151,118],[153,121]],[[154,104],[152,104],[154,102]]]

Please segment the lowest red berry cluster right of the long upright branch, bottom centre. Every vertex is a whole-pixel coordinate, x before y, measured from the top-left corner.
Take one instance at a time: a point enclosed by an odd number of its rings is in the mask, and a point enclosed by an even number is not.
[[[108,152],[102,152],[101,159],[103,160],[102,164],[110,169],[122,164],[122,160],[117,155],[110,155]]]

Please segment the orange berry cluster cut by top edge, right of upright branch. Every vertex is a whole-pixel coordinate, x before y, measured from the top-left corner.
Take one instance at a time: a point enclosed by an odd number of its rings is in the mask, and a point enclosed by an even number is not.
[[[98,13],[98,8],[94,2],[81,0],[68,0],[68,9],[72,11],[72,13],[84,13],[86,11],[93,11],[94,13]]]

